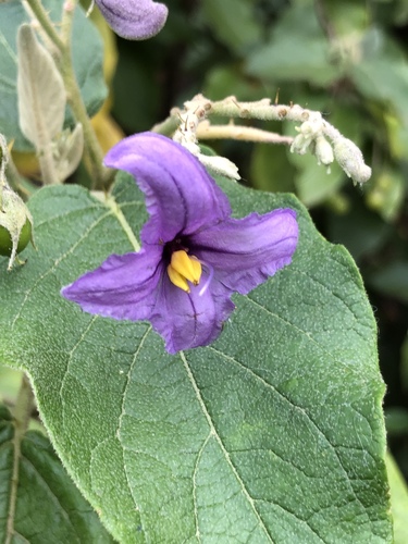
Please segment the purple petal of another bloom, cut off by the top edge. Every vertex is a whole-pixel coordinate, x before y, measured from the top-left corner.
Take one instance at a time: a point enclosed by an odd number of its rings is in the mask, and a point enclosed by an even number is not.
[[[151,0],[95,0],[109,26],[122,38],[156,36],[168,18],[168,8]]]

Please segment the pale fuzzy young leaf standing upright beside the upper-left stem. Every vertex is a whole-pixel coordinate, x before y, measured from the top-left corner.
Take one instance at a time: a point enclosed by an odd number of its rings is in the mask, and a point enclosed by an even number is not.
[[[65,87],[51,54],[29,25],[17,34],[20,126],[38,151],[46,149],[64,123]]]

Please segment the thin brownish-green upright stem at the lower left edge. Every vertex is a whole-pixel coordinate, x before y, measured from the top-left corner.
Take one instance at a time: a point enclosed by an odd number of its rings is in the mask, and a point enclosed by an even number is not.
[[[24,434],[28,428],[29,418],[35,405],[34,393],[29,381],[25,374],[23,374],[22,383],[20,386],[17,399],[14,407],[14,455],[13,455],[13,472],[11,478],[10,487],[10,502],[9,502],[9,514],[7,521],[7,536],[5,544],[11,544],[14,539],[14,518],[15,518],[15,507],[17,502],[17,487],[18,487],[18,472],[20,472],[20,460],[21,460],[21,443]]]

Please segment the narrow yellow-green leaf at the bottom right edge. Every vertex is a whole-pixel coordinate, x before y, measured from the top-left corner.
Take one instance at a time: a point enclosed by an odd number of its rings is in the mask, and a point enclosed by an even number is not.
[[[385,457],[390,478],[391,506],[394,519],[394,544],[408,542],[408,487],[393,456]]]

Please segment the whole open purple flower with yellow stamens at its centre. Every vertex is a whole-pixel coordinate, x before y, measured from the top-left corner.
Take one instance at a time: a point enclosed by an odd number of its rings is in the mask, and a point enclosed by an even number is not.
[[[175,141],[131,136],[104,162],[135,176],[150,218],[140,251],[112,255],[62,289],[85,311],[148,320],[174,354],[213,342],[235,308],[232,294],[245,295],[290,262],[295,212],[231,218],[226,196]]]

